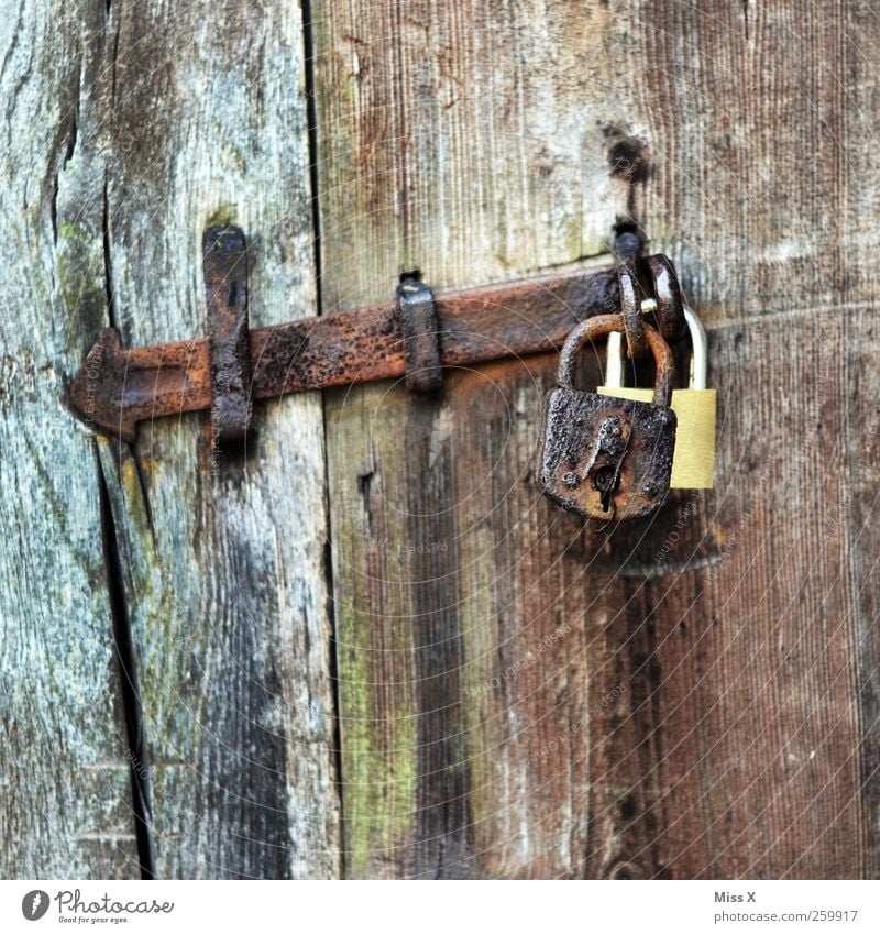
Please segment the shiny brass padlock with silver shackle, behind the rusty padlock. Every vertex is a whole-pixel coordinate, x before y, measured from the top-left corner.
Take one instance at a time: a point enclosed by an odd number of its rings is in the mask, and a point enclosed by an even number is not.
[[[642,303],[650,310],[650,303]],[[674,389],[672,410],[679,418],[670,490],[712,490],[715,484],[715,410],[717,393],[706,388],[708,344],[700,318],[685,305],[684,318],[691,334],[691,378],[686,389]],[[623,334],[608,334],[603,396],[648,402],[651,389],[624,386]]]

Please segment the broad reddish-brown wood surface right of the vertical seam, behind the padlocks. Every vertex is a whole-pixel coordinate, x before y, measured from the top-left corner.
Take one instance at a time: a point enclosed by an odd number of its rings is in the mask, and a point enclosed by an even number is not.
[[[721,399],[717,488],[597,532],[530,483],[552,360],[329,395],[348,871],[877,877],[869,10],[329,2],[316,37],[324,308],[623,215]]]

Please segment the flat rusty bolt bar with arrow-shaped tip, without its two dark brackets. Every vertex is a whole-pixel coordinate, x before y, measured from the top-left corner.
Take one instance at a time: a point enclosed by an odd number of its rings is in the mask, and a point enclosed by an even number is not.
[[[206,287],[210,290],[210,285]],[[221,289],[218,295],[228,301],[230,293]],[[469,366],[557,350],[579,321],[613,311],[617,304],[617,276],[612,268],[437,295],[440,363]],[[431,326],[426,327],[430,331]],[[255,329],[250,331],[248,349],[251,399],[407,373],[397,301]],[[241,394],[235,398],[240,402]],[[118,331],[107,328],[74,378],[69,402],[90,427],[128,441],[134,439],[139,421],[209,409],[209,341],[125,350]],[[234,411],[243,410],[237,403]]]

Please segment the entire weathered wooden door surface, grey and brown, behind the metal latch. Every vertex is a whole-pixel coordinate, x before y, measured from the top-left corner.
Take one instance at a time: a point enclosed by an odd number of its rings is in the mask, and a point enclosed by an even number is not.
[[[8,877],[877,877],[880,24],[857,2],[19,0],[0,371]],[[92,437],[99,330],[609,262],[710,330],[717,485],[584,527],[552,356]],[[597,373],[596,369],[596,373]]]

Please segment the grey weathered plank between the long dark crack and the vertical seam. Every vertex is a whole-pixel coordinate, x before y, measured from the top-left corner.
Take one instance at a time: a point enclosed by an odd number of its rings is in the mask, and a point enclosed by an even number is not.
[[[315,314],[296,4],[114,2],[85,135],[125,345],[201,336],[201,233],[240,226],[253,327]],[[87,338],[94,340],[97,331]],[[160,877],[338,872],[320,399],[100,444],[139,662]]]

